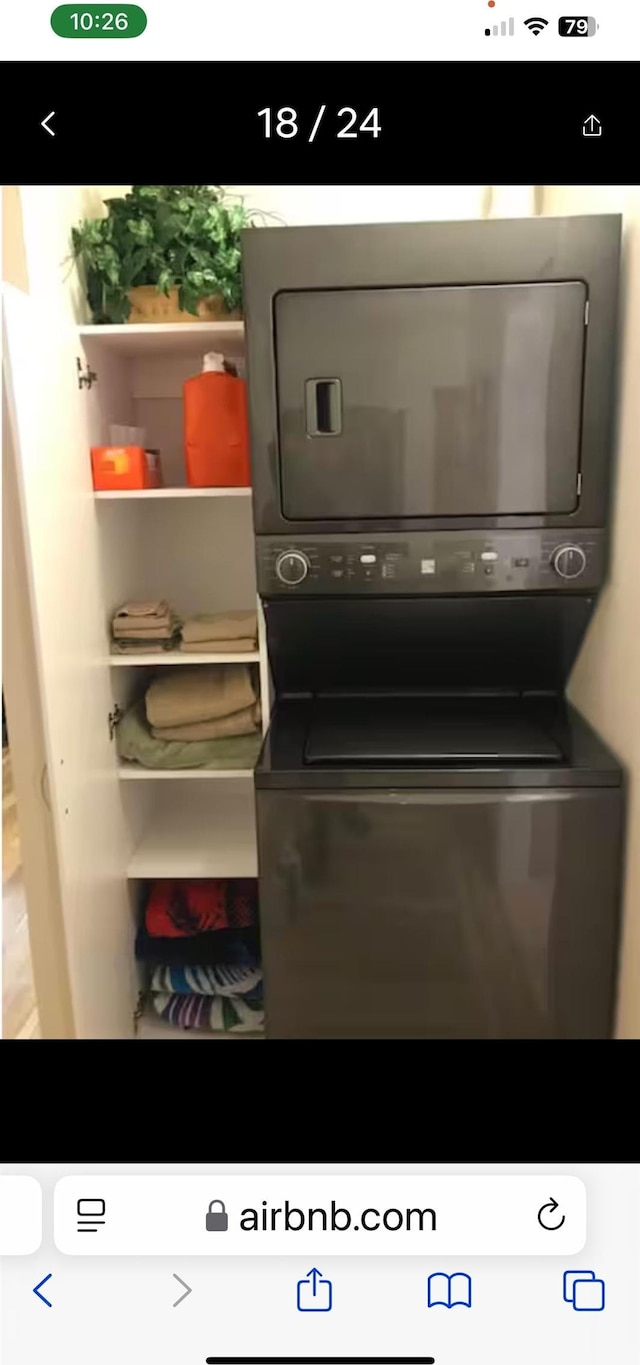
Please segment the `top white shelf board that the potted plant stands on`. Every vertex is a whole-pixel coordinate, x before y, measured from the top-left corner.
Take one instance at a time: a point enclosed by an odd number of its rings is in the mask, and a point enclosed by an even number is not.
[[[78,328],[81,341],[98,341],[117,355],[242,355],[244,322],[123,322]]]

